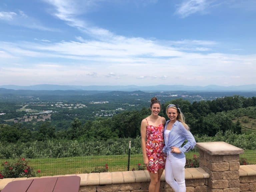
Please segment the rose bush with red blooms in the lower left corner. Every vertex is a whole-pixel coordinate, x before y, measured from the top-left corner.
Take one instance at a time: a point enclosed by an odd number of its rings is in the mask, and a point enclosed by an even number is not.
[[[18,161],[5,161],[2,163],[3,170],[1,175],[4,178],[17,178],[17,177],[35,177],[40,170],[35,173],[34,169],[30,167],[24,158]]]

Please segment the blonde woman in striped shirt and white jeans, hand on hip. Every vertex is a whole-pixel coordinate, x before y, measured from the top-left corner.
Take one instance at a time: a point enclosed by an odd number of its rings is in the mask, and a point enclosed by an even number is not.
[[[185,164],[184,152],[193,149],[196,141],[188,125],[184,121],[184,116],[180,108],[170,104],[166,108],[166,114],[170,120],[165,124],[163,152],[167,154],[165,164],[165,181],[175,192],[186,192],[185,185]],[[184,141],[188,142],[182,146]]]

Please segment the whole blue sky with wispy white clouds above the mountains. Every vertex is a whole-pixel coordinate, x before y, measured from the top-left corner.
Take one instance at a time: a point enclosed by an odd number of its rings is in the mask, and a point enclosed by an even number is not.
[[[0,85],[256,82],[255,0],[0,0]]]

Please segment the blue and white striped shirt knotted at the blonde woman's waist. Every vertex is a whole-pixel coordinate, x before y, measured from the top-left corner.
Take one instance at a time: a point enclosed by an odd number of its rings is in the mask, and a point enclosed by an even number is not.
[[[164,132],[169,122],[170,120],[166,121]],[[185,140],[188,140],[188,142],[183,147],[181,147]],[[184,125],[180,121],[175,121],[168,135],[168,139],[164,137],[164,142],[165,146],[163,148],[163,152],[167,155],[171,154],[171,147],[178,147],[180,149],[181,153],[172,153],[173,156],[177,157],[178,159],[184,158],[184,152],[188,152],[196,145],[196,140],[194,136],[184,127]]]

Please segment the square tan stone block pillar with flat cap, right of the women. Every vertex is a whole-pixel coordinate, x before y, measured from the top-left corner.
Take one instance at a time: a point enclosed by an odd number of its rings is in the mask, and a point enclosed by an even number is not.
[[[210,174],[208,192],[239,192],[239,154],[244,150],[226,142],[197,143],[199,166]]]

